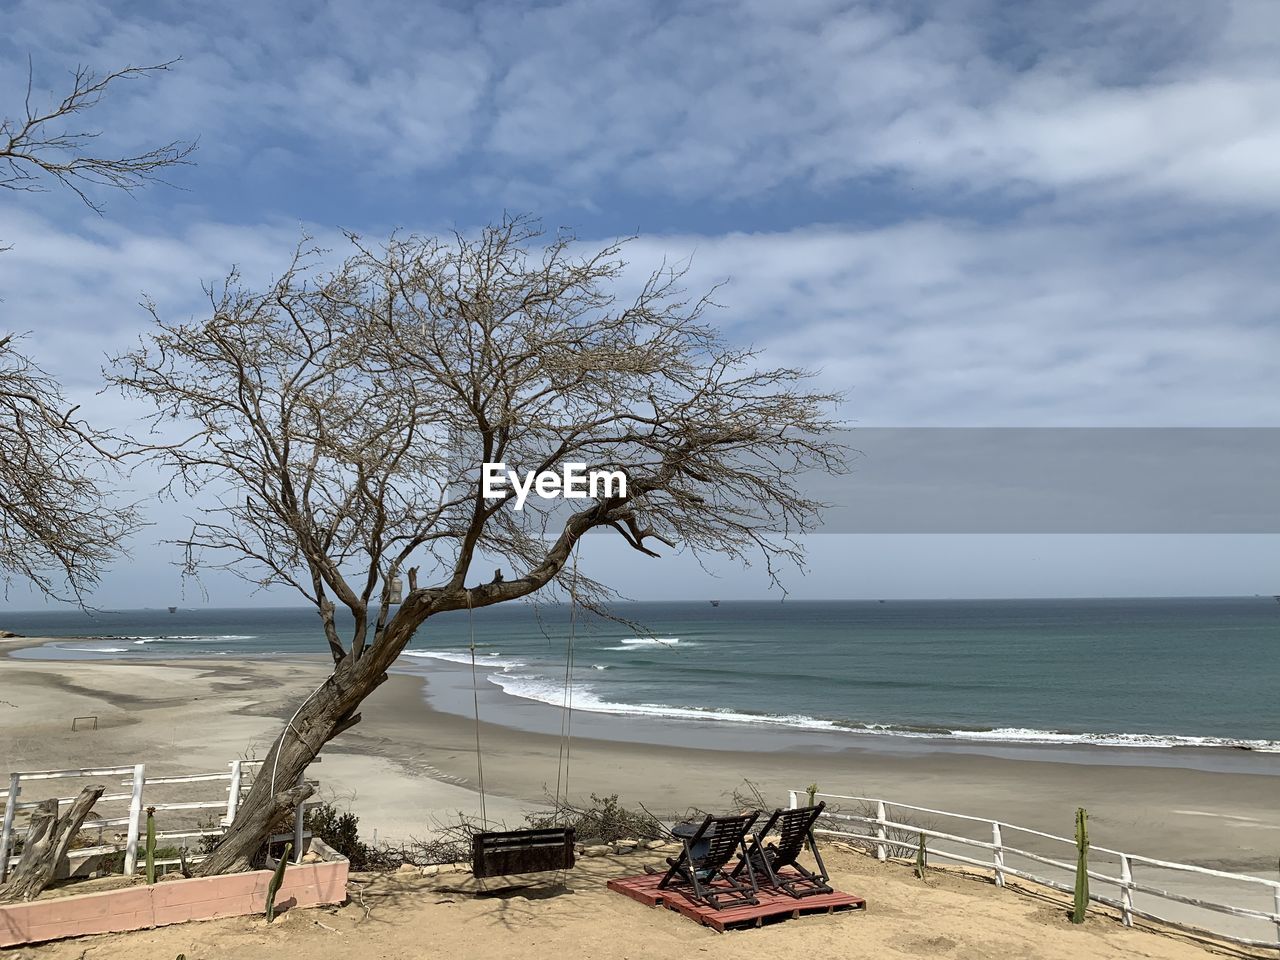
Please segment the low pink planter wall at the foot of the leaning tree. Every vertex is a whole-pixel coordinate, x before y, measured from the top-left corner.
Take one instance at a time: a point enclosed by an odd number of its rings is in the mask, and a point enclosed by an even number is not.
[[[284,882],[275,896],[278,910],[346,901],[347,859],[319,840],[311,841],[311,850],[325,859],[284,870]],[[0,906],[0,947],[261,914],[266,910],[270,882],[270,870],[253,870],[9,904]]]

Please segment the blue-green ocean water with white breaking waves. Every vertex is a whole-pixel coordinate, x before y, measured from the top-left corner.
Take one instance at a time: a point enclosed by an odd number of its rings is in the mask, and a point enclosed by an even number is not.
[[[635,603],[579,620],[575,710],[900,737],[1280,751],[1272,598]],[[68,637],[19,657],[324,654],[314,611],[3,612]],[[570,611],[435,617],[406,664],[470,663],[511,696],[564,700]],[[76,637],[76,639],[70,639]],[[0,663],[0,689],[3,689]]]

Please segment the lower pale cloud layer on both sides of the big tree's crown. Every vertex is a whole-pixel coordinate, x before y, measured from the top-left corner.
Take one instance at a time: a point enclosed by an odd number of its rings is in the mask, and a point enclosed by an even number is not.
[[[37,356],[83,390],[145,328],[143,293],[198,314],[202,280],[239,264],[262,283],[301,232],[84,223],[20,215],[0,256],[6,325],[36,330]],[[764,362],[820,367],[864,424],[1248,426],[1280,420],[1275,252],[1046,220],[644,237],[626,256],[632,275],[691,257],[695,293],[728,279],[709,319]]]

